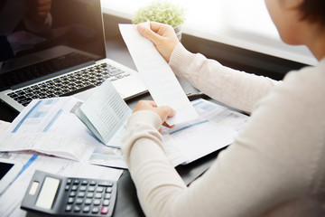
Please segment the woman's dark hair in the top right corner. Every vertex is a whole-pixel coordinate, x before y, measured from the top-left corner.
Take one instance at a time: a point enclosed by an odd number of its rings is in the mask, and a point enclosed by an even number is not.
[[[304,0],[298,9],[302,12],[302,20],[325,24],[324,0]]]

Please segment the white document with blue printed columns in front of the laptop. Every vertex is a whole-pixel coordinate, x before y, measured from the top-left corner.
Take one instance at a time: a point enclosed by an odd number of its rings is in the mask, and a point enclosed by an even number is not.
[[[33,151],[83,161],[102,144],[74,114],[79,99],[37,99],[0,137],[0,151]]]

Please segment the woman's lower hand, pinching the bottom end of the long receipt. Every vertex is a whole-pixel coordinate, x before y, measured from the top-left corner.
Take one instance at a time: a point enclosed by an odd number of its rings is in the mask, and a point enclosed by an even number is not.
[[[134,112],[138,110],[152,110],[155,113],[157,113],[159,117],[162,119],[162,123],[164,127],[170,127],[170,128],[174,127],[174,126],[169,126],[165,122],[167,118],[171,118],[175,115],[175,110],[168,106],[157,107],[157,104],[155,104],[154,101],[141,100],[136,105]]]

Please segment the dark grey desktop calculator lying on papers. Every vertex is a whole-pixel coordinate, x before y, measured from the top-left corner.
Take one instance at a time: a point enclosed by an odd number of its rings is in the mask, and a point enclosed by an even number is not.
[[[112,216],[117,183],[36,170],[21,208],[60,216]]]

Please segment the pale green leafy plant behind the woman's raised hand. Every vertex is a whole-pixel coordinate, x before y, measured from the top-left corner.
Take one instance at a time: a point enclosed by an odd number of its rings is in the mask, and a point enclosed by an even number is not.
[[[171,2],[156,1],[150,5],[140,7],[132,19],[133,24],[140,24],[147,21],[155,21],[163,24],[170,24],[177,28],[185,21],[184,9]]]

